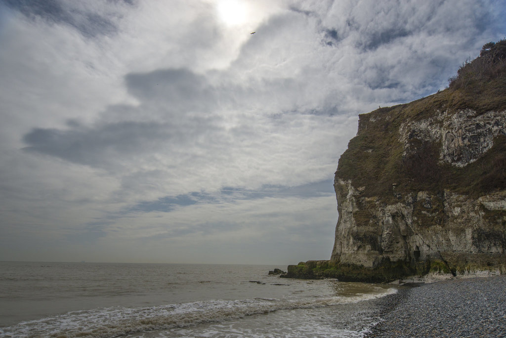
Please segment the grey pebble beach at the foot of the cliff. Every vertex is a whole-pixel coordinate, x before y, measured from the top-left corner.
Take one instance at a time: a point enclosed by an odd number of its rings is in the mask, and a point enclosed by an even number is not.
[[[366,337],[506,338],[506,275],[412,286],[375,301],[381,321]]]

